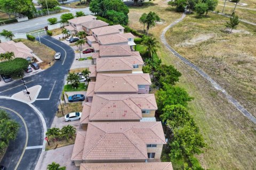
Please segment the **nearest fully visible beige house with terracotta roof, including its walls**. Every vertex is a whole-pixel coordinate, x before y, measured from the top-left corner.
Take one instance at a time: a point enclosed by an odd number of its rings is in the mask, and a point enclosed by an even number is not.
[[[164,144],[161,122],[90,122],[77,132],[71,160],[76,166],[160,162]]]

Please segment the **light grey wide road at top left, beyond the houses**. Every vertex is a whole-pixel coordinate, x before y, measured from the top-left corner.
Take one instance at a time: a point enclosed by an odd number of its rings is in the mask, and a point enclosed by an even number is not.
[[[92,14],[91,11],[89,10],[89,7],[76,8],[76,9],[68,8],[68,9],[70,10],[70,12],[65,12],[65,13],[73,13],[75,15],[77,11],[83,11],[85,14]],[[0,32],[2,32],[3,29],[5,29],[8,31],[12,31],[12,33],[27,33],[27,32],[31,32],[38,29],[44,29],[44,27],[48,25],[47,19],[58,18],[59,20],[60,15],[62,14],[64,13],[46,15],[46,16],[41,16],[39,18],[31,19],[28,21],[3,25],[3,26],[0,26]]]

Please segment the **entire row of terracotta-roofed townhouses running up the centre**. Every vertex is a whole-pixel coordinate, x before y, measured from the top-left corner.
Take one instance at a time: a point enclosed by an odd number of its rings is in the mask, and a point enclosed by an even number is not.
[[[87,170],[172,170],[171,163],[161,163],[166,139],[162,123],[155,118],[150,75],[142,72],[143,60],[129,44],[133,35],[124,33],[121,25],[108,26],[87,16],[91,20],[76,22],[76,27],[86,30],[87,43],[98,44],[98,50],[94,48],[91,82],[71,160]],[[74,19],[70,23],[74,25]],[[94,28],[93,23],[101,27]],[[126,39],[123,44],[102,43],[116,42],[120,36]]]

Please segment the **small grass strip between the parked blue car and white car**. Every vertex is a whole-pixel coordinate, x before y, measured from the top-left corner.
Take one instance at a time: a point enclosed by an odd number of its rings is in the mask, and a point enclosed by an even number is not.
[[[65,104],[61,104],[62,106],[62,110],[63,110],[63,115],[66,115],[68,113],[72,113],[72,112],[82,112],[82,104],[81,103],[67,103]],[[59,113],[56,113],[57,117],[63,117],[62,112],[61,112],[61,107],[60,105],[58,106],[59,108]]]

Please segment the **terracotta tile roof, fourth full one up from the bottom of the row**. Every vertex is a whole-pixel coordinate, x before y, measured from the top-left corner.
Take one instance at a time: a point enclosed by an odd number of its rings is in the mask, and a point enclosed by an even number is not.
[[[144,63],[141,57],[97,58],[97,72],[133,70],[133,64]]]

